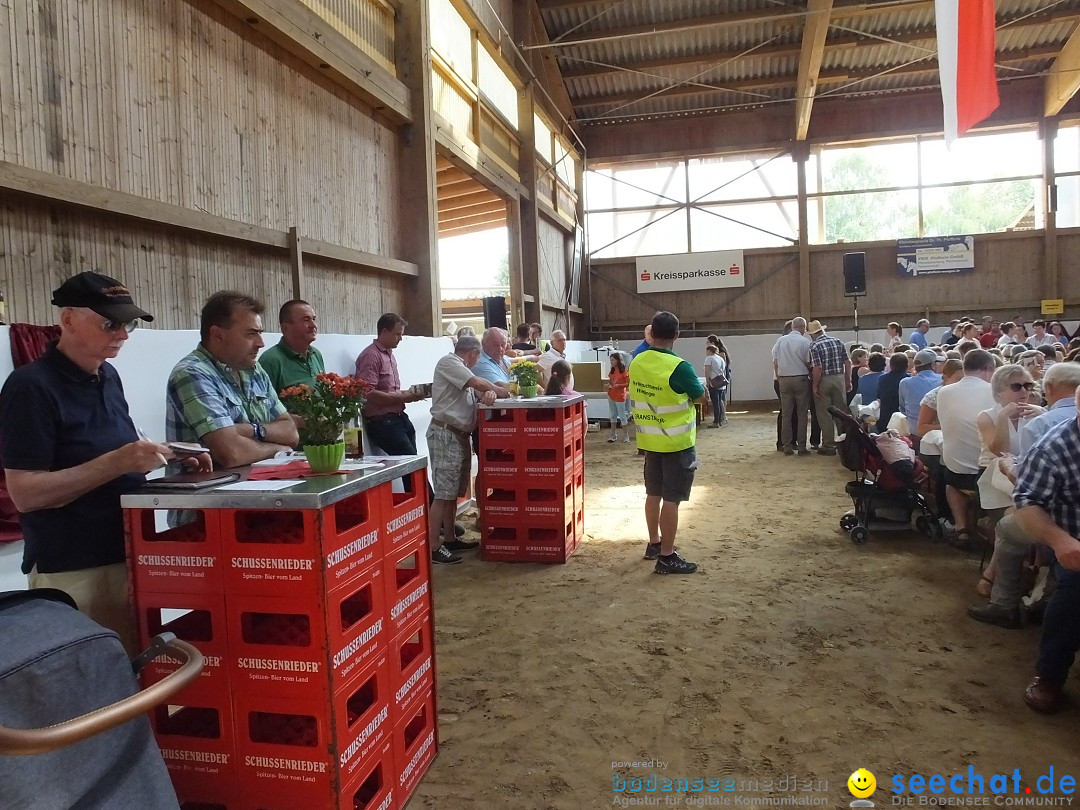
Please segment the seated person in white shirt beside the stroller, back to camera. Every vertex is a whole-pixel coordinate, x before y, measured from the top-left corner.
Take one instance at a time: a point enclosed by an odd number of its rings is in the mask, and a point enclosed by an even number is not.
[[[997,365],[985,349],[972,349],[963,357],[963,378],[937,393],[937,421],[942,426],[942,467],[945,497],[956,521],[957,544],[972,538],[968,527],[968,496],[978,489],[978,456],[982,438],[976,419],[994,407],[990,377]]]

